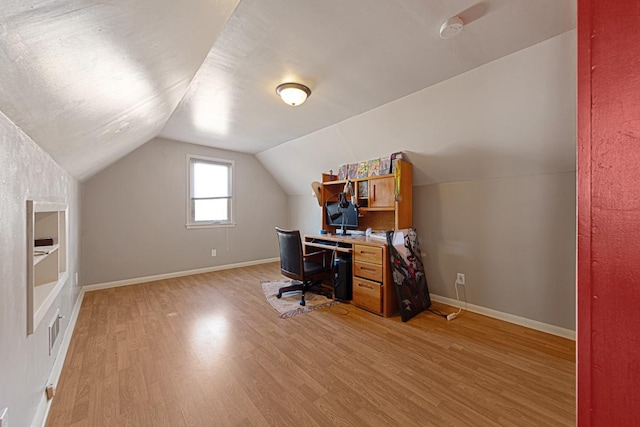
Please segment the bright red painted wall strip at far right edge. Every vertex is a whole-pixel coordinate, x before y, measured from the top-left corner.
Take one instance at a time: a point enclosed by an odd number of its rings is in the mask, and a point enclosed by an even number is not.
[[[578,425],[640,419],[640,2],[578,2]]]

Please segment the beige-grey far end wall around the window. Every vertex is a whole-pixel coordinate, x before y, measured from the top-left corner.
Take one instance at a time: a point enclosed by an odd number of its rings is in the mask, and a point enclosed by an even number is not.
[[[187,154],[235,161],[235,227],[185,228]],[[290,223],[284,192],[254,156],[161,138],[90,178],[82,192],[82,284],[274,258],[275,227]]]

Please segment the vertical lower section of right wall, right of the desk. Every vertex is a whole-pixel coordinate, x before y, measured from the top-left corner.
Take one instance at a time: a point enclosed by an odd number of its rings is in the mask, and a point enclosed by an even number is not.
[[[575,330],[575,173],[414,188],[431,293]]]

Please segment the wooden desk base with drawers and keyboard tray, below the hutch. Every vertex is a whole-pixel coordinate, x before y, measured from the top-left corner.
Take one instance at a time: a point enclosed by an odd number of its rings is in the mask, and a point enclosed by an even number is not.
[[[363,235],[305,235],[305,246],[352,254],[351,303],[388,317],[398,311],[387,243]]]

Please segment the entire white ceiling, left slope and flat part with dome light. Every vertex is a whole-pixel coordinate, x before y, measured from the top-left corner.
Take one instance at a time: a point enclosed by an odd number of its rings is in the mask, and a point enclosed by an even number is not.
[[[264,152],[575,27],[575,0],[10,0],[0,13],[0,110],[81,180],[156,136]],[[455,15],[462,34],[440,39]],[[308,85],[307,103],[283,104],[285,81]]]

